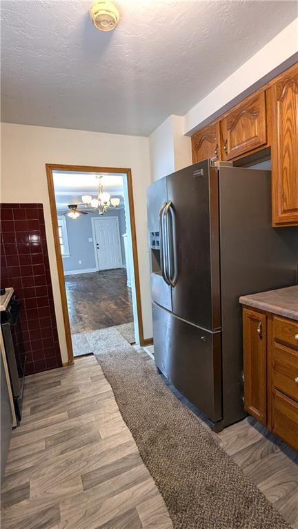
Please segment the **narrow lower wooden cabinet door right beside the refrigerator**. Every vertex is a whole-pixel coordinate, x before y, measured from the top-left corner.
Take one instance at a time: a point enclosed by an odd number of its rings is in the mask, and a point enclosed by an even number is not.
[[[244,309],[244,409],[266,424],[266,315]]]

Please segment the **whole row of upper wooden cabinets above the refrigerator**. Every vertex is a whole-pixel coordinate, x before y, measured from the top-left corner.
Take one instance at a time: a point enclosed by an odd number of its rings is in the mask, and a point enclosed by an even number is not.
[[[298,63],[192,137],[192,162],[271,147],[272,226],[298,226]]]

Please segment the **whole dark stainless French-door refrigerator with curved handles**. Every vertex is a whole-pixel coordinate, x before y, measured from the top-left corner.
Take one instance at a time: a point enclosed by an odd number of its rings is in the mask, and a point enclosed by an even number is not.
[[[222,165],[147,193],[155,363],[217,431],[245,415],[239,296],[297,283],[298,261],[298,228],[271,226],[270,171]]]

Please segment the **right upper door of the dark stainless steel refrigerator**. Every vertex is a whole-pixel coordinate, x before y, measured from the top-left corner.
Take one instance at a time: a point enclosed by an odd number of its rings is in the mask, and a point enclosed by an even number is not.
[[[205,160],[167,177],[172,312],[200,327],[221,326],[218,173]]]

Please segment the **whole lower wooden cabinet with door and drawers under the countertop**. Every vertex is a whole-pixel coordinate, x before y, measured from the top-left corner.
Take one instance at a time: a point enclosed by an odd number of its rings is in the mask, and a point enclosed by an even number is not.
[[[244,408],[298,450],[298,321],[244,308]]]

